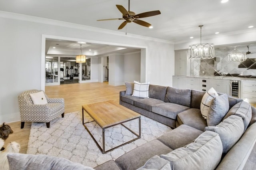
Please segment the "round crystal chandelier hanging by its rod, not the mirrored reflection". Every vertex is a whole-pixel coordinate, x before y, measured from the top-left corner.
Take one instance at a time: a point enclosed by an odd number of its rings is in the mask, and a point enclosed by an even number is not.
[[[202,42],[202,27],[200,25],[200,43],[190,45],[188,48],[189,59],[211,59],[214,58],[214,44]]]

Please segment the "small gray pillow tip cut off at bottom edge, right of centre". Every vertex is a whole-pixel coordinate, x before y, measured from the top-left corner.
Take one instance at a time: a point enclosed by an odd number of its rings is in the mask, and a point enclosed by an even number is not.
[[[137,170],[171,170],[171,165],[168,160],[155,155]]]

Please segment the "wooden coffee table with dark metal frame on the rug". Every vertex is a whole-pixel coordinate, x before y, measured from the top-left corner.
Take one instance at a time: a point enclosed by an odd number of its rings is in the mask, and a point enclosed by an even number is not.
[[[86,127],[86,123],[90,122],[84,122],[84,111],[92,117],[92,119],[102,128],[102,147],[100,144],[96,141],[96,139],[92,136],[92,133]],[[113,101],[104,101],[99,103],[92,103],[88,105],[82,105],[82,119],[83,119],[83,125],[90,134],[90,136],[93,138],[94,142],[97,144],[98,148],[101,150],[102,154],[106,152],[110,152],[120,146],[123,146],[125,144],[128,144],[134,140],[137,140],[141,136],[141,125],[140,125],[140,114],[122,106],[118,103],[114,103]],[[123,123],[132,121],[134,119],[139,120],[139,134],[136,134],[134,131],[132,131],[130,128],[123,125]],[[123,127],[127,128],[130,132],[135,134],[137,138],[134,138],[128,142],[125,142],[119,146],[116,146],[114,148],[111,148],[109,150],[105,150],[105,129],[109,127],[113,127],[116,125],[122,125]]]

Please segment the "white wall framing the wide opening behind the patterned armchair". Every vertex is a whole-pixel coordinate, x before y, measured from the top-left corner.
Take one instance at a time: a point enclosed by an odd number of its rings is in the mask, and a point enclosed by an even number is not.
[[[147,74],[142,77],[153,84],[172,85],[172,42],[6,12],[0,12],[0,23],[0,61],[8,63],[2,64],[1,70],[4,71],[0,71],[0,122],[20,120],[18,95],[28,89],[41,89],[41,81],[44,83],[44,74],[41,73],[42,35],[145,47]]]

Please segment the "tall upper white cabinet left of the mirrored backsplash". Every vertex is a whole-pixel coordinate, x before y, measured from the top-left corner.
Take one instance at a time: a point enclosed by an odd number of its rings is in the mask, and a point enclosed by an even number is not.
[[[186,75],[188,51],[175,51],[174,74]]]

